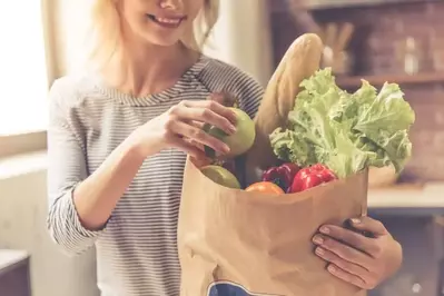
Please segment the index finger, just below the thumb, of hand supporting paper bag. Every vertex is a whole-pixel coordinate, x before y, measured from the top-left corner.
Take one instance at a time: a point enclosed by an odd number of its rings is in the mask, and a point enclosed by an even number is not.
[[[359,249],[371,256],[374,256],[379,251],[378,244],[375,239],[365,237],[362,234],[357,234],[341,226],[323,226],[319,231],[335,240],[344,241],[346,245]]]

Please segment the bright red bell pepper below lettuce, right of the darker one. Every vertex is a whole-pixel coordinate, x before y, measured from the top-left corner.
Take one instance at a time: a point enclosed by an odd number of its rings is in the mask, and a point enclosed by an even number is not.
[[[289,193],[300,193],[324,182],[337,179],[336,175],[326,166],[317,164],[300,169],[293,179]]]

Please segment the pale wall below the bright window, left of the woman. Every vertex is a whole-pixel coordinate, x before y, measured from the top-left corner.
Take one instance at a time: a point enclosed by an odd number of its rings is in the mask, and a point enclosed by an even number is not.
[[[32,296],[97,296],[93,250],[68,257],[47,233],[45,159],[0,162],[0,248],[30,253]]]

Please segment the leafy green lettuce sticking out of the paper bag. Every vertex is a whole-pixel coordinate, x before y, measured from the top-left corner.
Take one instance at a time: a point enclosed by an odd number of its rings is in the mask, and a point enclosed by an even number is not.
[[[412,155],[408,130],[415,114],[396,83],[386,82],[377,92],[363,80],[348,93],[325,68],[300,87],[287,128],[270,135],[279,159],[304,167],[324,164],[339,178],[371,166],[392,165],[397,172],[404,168]]]

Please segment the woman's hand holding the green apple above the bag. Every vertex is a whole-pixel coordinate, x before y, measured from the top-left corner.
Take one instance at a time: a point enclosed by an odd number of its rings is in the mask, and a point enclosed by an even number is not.
[[[214,100],[184,100],[168,111],[136,129],[130,138],[142,157],[175,147],[195,158],[203,158],[204,146],[219,154],[229,147],[203,130],[205,124],[218,127],[228,135],[236,131],[236,115]]]

